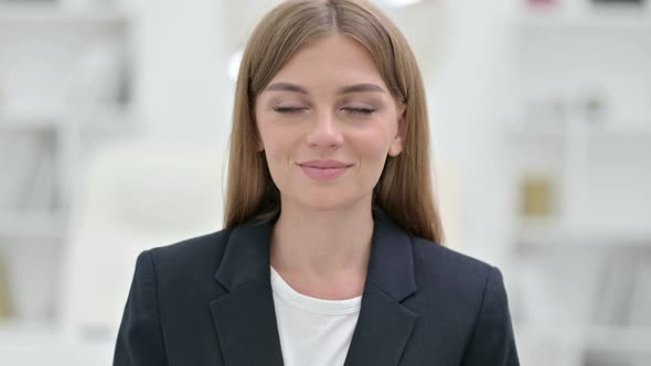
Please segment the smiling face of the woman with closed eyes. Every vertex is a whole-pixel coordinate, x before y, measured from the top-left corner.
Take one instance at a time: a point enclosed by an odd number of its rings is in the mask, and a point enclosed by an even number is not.
[[[403,112],[357,42],[332,35],[300,47],[255,106],[282,207],[370,206],[387,154],[403,149]]]

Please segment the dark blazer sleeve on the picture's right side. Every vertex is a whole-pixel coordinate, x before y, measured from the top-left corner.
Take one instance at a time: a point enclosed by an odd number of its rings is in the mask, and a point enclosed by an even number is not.
[[[502,273],[495,267],[487,279],[474,332],[462,366],[519,366],[511,314]]]

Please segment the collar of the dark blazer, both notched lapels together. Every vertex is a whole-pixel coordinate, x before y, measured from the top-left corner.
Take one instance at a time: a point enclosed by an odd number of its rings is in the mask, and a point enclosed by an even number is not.
[[[382,211],[374,209],[373,219],[362,308],[345,366],[397,365],[418,317],[401,304],[416,292],[409,235]],[[227,366],[282,365],[270,288],[271,227],[259,222],[236,227],[215,273],[228,291],[210,304]]]

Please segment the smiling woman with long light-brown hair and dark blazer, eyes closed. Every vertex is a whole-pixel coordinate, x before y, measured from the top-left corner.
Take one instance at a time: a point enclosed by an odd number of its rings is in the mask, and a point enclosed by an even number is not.
[[[279,4],[239,71],[225,229],[138,257],[114,365],[519,365],[500,271],[440,245],[428,141],[378,10]]]

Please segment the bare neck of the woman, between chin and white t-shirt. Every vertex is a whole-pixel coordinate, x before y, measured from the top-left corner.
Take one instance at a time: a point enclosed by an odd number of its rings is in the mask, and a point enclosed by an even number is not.
[[[372,236],[370,204],[314,212],[284,203],[271,235],[271,266],[307,278],[363,277]]]

